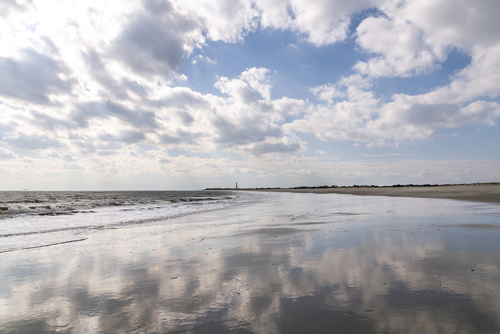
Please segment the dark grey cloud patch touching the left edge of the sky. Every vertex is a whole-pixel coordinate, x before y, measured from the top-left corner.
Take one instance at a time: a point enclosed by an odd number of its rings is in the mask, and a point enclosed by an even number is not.
[[[49,94],[70,93],[74,80],[62,80],[67,73],[59,62],[33,50],[22,61],[0,57],[0,95],[47,105]]]

